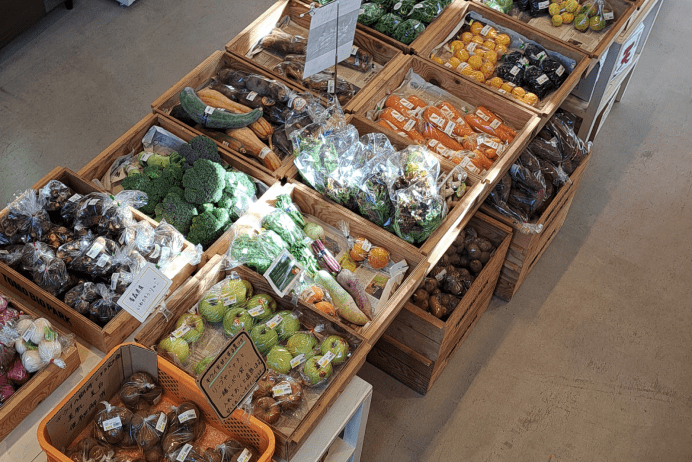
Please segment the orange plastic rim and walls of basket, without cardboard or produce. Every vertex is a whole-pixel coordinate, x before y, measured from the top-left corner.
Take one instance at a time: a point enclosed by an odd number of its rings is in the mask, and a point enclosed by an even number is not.
[[[146,348],[136,343],[124,345],[136,345]],[[121,346],[122,345],[111,350],[106,357],[104,357],[103,360],[101,360],[101,362],[93,369],[92,374],[103,364],[108,362],[111,356],[113,356]],[[270,462],[272,460],[276,442],[274,439],[274,433],[267,425],[252,416],[249,416],[249,421],[247,420],[247,417],[240,420],[240,417],[243,414],[240,410],[236,410],[231,418],[226,422],[221,422],[216,417],[216,414],[211,410],[207,400],[205,399],[204,395],[202,395],[199,388],[197,388],[197,384],[192,377],[185,374],[185,372],[178,369],[175,365],[158,356],[157,367],[159,372],[159,385],[161,385],[163,388],[164,397],[175,403],[192,401],[199,407],[209,425],[212,425],[216,429],[222,431],[228,435],[229,438],[234,438],[243,444],[258,448],[260,450],[259,462]],[[65,454],[61,452],[59,448],[56,448],[51,444],[46,426],[48,421],[52,419],[53,416],[63,406],[65,406],[76,393],[79,392],[80,388],[82,388],[82,386],[89,381],[92,374],[89,374],[88,377],[82,380],[79,385],[77,385],[65,397],[65,399],[63,399],[60,404],[53,409],[45,419],[43,419],[38,427],[38,442],[41,445],[41,449],[45,451],[47,460],[49,462],[72,462]]]

